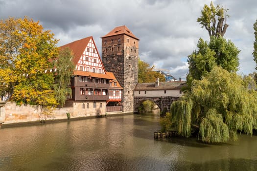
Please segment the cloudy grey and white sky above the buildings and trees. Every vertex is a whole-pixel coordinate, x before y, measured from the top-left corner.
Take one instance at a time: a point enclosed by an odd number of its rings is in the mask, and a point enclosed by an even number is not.
[[[229,11],[225,34],[241,50],[239,74],[255,71],[253,24],[257,0],[213,0]],[[209,40],[197,18],[210,0],[0,0],[0,19],[27,16],[55,34],[58,46],[93,36],[101,52],[100,37],[126,25],[140,39],[140,59],[176,78],[186,78],[187,55],[199,38]],[[101,54],[100,54],[101,55]]]

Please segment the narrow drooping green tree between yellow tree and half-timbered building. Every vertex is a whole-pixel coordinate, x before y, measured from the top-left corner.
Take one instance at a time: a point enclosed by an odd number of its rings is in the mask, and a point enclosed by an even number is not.
[[[54,61],[56,68],[54,92],[56,101],[63,107],[67,95],[71,94],[70,77],[73,74],[75,65],[72,62],[73,54],[70,48],[64,48],[59,51],[58,58]]]

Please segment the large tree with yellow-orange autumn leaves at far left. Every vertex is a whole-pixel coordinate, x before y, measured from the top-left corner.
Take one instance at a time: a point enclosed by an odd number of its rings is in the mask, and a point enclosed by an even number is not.
[[[55,105],[50,59],[58,42],[39,21],[9,18],[0,21],[0,86],[17,103]],[[6,93],[5,92],[5,93]]]

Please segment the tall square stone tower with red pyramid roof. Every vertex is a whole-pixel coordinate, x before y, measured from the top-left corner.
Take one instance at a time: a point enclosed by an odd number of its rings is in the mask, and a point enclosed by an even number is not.
[[[114,28],[102,38],[102,62],[123,87],[123,112],[133,112],[134,88],[138,83],[139,39],[125,26]]]

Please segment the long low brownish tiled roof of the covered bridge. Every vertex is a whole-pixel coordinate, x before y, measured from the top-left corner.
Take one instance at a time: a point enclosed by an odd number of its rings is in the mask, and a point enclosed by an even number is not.
[[[181,90],[186,85],[185,81],[174,82],[160,82],[158,87],[155,87],[155,83],[140,83],[137,84],[134,91],[144,90]]]

